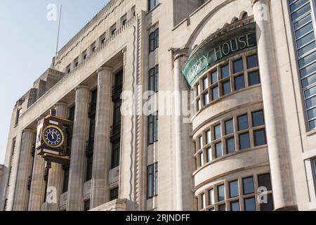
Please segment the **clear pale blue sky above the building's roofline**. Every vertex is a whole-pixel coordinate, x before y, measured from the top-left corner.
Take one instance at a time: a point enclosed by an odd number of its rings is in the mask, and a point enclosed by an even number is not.
[[[100,11],[108,0],[0,1],[0,164],[4,162],[15,102],[51,65],[58,21],[48,21],[48,4],[62,4],[60,48]]]

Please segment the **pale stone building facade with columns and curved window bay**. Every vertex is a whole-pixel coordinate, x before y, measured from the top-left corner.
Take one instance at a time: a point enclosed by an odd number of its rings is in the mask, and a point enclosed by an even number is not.
[[[16,103],[0,210],[316,210],[315,22],[312,0],[110,1]],[[190,115],[142,113],[166,91]],[[52,108],[74,127],[48,169]]]

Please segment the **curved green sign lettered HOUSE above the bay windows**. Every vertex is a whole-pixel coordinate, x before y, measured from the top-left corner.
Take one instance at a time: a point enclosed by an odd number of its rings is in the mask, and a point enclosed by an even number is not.
[[[250,24],[251,29],[246,29],[246,32],[241,32],[245,30],[243,28],[232,30],[230,34],[235,35],[230,35],[234,37],[227,41],[209,41],[187,60],[182,73],[190,87],[204,72],[221,60],[257,46],[255,24]]]

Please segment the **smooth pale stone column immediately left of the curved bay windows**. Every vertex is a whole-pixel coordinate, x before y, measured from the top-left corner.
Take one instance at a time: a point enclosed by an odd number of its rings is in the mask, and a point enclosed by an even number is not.
[[[178,49],[173,52],[173,73],[174,73],[174,91],[175,93],[175,115],[174,115],[174,141],[175,141],[175,164],[176,164],[176,210],[192,210],[193,204],[191,190],[191,171],[190,168],[190,124],[183,122],[182,91],[190,91],[187,89],[185,81],[181,75],[181,70],[187,60],[187,49]],[[189,203],[190,202],[190,203]]]

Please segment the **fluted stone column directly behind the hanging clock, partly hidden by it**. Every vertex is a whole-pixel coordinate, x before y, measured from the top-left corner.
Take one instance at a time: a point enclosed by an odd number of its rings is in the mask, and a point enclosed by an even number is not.
[[[57,103],[55,105],[55,110],[56,110],[57,117],[67,119],[69,110],[66,103]],[[47,211],[59,211],[59,200],[60,200],[60,195],[62,194],[63,175],[64,175],[64,171],[62,169],[62,165],[52,162],[51,169],[49,169],[49,172],[48,172],[47,187],[56,188],[57,203],[48,204]]]

